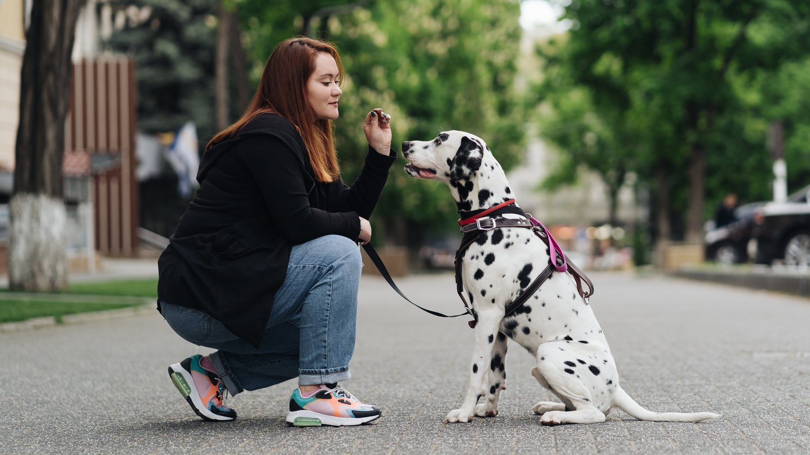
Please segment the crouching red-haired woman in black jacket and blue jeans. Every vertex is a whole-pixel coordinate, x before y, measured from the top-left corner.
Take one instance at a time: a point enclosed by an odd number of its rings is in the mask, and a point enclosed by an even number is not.
[[[200,187],[158,262],[158,309],[185,340],[219,351],[168,368],[191,408],[232,420],[223,394],[297,377],[287,422],[358,425],[382,411],[337,385],[355,341],[358,244],[396,159],[390,116],[363,130],[369,154],[343,184],[331,121],[343,66],[332,45],[279,44],[242,117],[208,142]]]

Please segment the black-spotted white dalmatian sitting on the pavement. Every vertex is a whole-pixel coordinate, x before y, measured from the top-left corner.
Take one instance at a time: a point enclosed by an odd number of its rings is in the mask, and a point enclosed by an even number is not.
[[[501,165],[473,134],[445,131],[433,141],[403,142],[402,151],[409,163],[405,172],[445,182],[460,211],[485,210],[515,198]],[[531,375],[560,400],[532,408],[544,425],[604,422],[612,406],[642,420],[700,422],[719,417],[710,412],[652,412],[633,401],[621,389],[608,341],[569,274],[552,273],[534,296],[505,317],[506,306],[548,265],[549,253],[544,241],[525,228],[484,231],[464,253],[463,287],[478,321],[467,394],[445,423],[497,415],[498,398],[506,389],[507,338],[535,356]],[[480,397],[485,400],[479,404]]]

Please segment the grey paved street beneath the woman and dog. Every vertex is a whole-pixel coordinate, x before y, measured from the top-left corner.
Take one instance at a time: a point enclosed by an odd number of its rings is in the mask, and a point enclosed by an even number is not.
[[[552,396],[510,344],[501,414],[441,419],[461,402],[466,318],[411,307],[364,277],[354,378],[382,406],[364,427],[283,423],[292,381],[242,393],[231,423],[198,419],[168,379],[193,347],[158,313],[0,334],[0,453],[810,453],[810,300],[665,277],[592,274],[591,300],[621,385],[650,410],[712,411],[705,423],[654,423],[614,410],[591,425],[543,427]],[[451,274],[399,279],[411,299],[458,313]]]

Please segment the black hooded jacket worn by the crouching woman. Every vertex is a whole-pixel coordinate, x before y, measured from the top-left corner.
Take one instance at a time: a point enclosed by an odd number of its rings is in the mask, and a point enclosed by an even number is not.
[[[200,187],[158,260],[159,300],[208,313],[258,347],[292,245],[356,240],[395,159],[369,147],[351,188],[317,182],[295,126],[259,115],[203,154]]]

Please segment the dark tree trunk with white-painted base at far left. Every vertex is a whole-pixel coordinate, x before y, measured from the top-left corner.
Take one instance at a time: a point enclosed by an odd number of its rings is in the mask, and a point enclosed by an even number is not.
[[[83,0],[34,0],[21,71],[14,190],[9,202],[9,287],[67,287],[62,157],[76,19]]]

